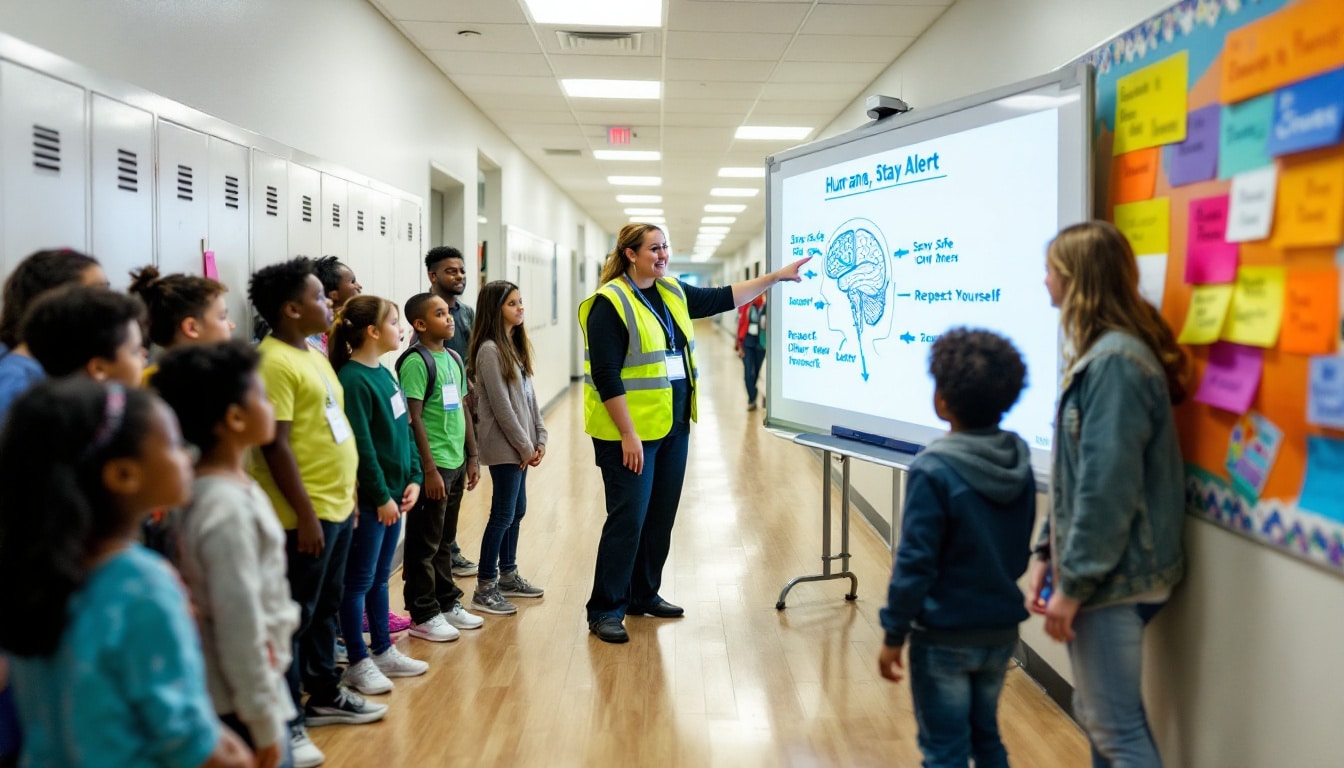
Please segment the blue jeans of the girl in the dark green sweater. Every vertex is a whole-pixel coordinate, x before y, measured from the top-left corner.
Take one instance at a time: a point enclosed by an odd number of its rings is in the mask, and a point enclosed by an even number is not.
[[[394,499],[395,500],[395,499]],[[402,521],[384,526],[378,521],[378,510],[359,506],[359,527],[349,542],[345,562],[345,594],[340,601],[340,631],[345,638],[349,663],[358,664],[368,656],[364,646],[364,611],[368,611],[368,636],[375,654],[392,647],[387,632],[387,577],[392,573],[392,554],[402,533]]]

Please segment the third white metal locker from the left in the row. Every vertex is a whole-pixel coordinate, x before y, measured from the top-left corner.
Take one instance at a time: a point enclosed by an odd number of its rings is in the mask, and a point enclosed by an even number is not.
[[[204,274],[210,237],[210,141],[159,121],[159,272]]]

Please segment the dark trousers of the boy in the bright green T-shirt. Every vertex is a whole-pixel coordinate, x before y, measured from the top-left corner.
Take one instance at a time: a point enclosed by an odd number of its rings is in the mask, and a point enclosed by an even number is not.
[[[466,488],[466,467],[438,469],[448,492],[430,499],[423,492],[415,508],[406,514],[406,542],[402,545],[402,597],[411,621],[423,624],[462,599],[453,581],[453,539],[457,538],[457,514]]]

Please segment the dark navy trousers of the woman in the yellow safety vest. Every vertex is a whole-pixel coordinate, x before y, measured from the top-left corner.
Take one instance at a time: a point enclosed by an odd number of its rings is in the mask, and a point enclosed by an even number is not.
[[[661,440],[644,441],[644,472],[621,464],[621,444],[593,440],[606,491],[606,523],[597,545],[589,623],[602,616],[624,619],[630,609],[656,605],[663,565],[672,547],[672,523],[681,502],[691,433],[676,425]]]

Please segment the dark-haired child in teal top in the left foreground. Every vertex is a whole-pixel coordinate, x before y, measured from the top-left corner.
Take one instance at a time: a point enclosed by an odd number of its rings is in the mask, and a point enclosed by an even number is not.
[[[146,390],[85,377],[23,394],[0,436],[0,623],[22,764],[253,765],[219,725],[172,569],[136,543],[185,503],[177,420]]]

